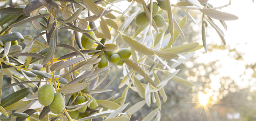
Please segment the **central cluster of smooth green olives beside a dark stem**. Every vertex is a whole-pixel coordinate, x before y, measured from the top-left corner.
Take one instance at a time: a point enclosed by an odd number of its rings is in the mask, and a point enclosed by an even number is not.
[[[115,63],[119,66],[124,64],[123,59],[127,59],[131,56],[131,50],[129,48],[122,48],[118,52],[116,51],[104,51],[104,54],[101,55],[101,60],[98,67],[103,68],[108,65],[108,61]]]

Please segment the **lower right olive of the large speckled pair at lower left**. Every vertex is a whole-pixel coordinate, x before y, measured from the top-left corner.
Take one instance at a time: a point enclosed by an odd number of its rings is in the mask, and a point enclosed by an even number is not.
[[[56,92],[54,94],[54,99],[52,103],[50,104],[50,110],[54,114],[59,114],[64,110],[65,101],[61,93]]]

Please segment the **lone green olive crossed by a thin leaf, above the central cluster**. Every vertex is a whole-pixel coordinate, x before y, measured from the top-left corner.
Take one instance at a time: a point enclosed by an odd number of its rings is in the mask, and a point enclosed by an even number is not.
[[[91,35],[91,37],[93,37],[94,39],[96,38],[93,31],[88,32],[88,34]],[[81,43],[82,43],[82,47],[84,47],[85,49],[91,49],[94,46],[95,41],[88,38],[85,35],[82,35]]]

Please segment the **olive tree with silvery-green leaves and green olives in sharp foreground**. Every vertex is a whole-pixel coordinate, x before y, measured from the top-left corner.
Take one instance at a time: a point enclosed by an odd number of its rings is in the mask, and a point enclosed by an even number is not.
[[[13,5],[12,0],[7,0],[0,8],[0,97],[4,96],[2,89],[15,91],[1,99],[1,121],[91,121],[99,120],[98,117],[129,121],[145,104],[157,108],[142,121],[154,117],[160,121],[161,100],[168,100],[164,90],[168,81],[193,86],[176,76],[180,71],[176,67],[200,48],[207,52],[208,24],[226,44],[224,33],[215,22],[219,20],[226,28],[225,21],[238,19],[216,10],[230,3],[214,7],[208,0],[25,2],[18,0]],[[187,15],[176,21],[175,17],[181,15],[175,11],[182,9]],[[176,44],[186,42],[182,28],[187,19],[195,22],[189,14],[191,10],[202,14],[202,23],[198,25],[202,25],[203,45]],[[32,23],[34,33],[24,35],[26,29],[13,29],[24,28],[28,23]],[[67,35],[61,34],[65,30],[72,35],[68,42],[63,41]],[[106,82],[111,70],[117,68],[123,69],[121,82],[116,81],[116,76]],[[158,77],[158,73],[165,77]],[[10,77],[7,81],[11,84],[3,86],[3,77]],[[119,83],[118,90],[124,91],[108,98],[99,96],[112,91],[109,86],[113,81]],[[128,90],[137,92],[143,100],[129,105]]]

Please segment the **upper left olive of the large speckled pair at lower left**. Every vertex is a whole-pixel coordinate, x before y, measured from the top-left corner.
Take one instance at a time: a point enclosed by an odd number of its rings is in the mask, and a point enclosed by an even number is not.
[[[52,103],[52,100],[54,98],[54,87],[47,83],[43,85],[38,92],[37,98],[40,104],[44,106],[48,106]]]

